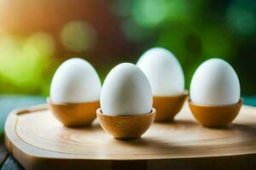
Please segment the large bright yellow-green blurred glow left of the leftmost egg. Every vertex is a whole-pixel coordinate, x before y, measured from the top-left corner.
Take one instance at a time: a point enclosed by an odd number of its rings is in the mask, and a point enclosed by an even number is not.
[[[46,33],[38,32],[27,38],[10,35],[1,37],[0,76],[3,78],[0,82],[27,90],[20,91],[21,94],[37,91],[42,93],[45,86],[42,82],[47,77],[44,70],[48,69],[46,65],[53,54],[55,42]]]

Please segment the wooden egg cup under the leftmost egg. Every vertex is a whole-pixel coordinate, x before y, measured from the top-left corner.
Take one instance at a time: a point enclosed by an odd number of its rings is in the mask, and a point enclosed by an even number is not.
[[[66,127],[88,126],[96,118],[96,109],[100,102],[86,102],[79,104],[54,104],[47,99],[49,110]]]

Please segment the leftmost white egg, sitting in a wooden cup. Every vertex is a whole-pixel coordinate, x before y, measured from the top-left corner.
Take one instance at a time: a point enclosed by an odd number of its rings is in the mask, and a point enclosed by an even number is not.
[[[67,59],[55,71],[50,99],[55,104],[84,103],[100,99],[102,84],[96,70],[84,59]]]

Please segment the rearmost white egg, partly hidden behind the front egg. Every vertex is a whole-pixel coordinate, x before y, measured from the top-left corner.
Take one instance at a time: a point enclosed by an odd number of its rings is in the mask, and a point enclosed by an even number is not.
[[[137,61],[155,96],[183,94],[184,75],[176,57],[165,48],[151,48]]]

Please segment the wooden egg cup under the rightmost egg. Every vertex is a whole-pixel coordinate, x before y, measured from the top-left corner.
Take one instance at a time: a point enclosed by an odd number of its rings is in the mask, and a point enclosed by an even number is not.
[[[242,99],[235,105],[195,105],[189,99],[189,108],[195,119],[204,127],[224,127],[229,125],[238,115]]]

